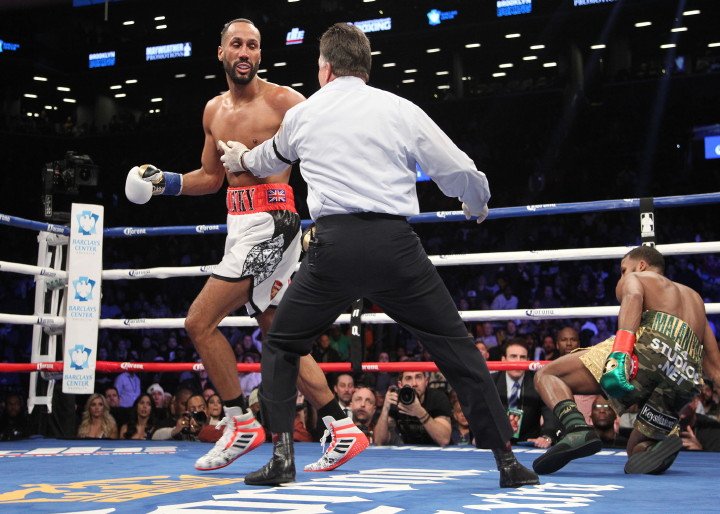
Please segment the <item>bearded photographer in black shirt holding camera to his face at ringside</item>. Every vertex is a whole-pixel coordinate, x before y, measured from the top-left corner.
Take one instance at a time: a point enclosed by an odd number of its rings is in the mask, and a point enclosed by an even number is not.
[[[450,400],[442,391],[428,389],[421,371],[403,371],[397,387],[388,388],[375,425],[375,444],[450,443]]]

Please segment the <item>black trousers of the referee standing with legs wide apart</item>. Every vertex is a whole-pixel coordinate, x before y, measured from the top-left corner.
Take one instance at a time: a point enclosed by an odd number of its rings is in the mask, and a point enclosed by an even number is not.
[[[300,356],[344,313],[367,298],[409,330],[458,395],[479,448],[499,448],[512,429],[485,359],[410,224],[358,213],[317,221],[300,269],[262,348],[260,406],[272,432],[292,432]]]

